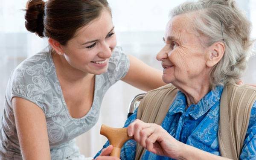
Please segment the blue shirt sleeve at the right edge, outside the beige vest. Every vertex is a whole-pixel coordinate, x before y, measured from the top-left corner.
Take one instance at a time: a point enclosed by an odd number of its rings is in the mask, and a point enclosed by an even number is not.
[[[248,129],[244,139],[244,145],[239,157],[240,160],[256,159],[256,102],[251,110]]]

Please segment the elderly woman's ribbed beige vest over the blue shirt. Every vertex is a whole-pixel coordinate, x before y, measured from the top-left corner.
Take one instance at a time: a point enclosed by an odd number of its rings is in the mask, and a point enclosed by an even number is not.
[[[149,91],[140,102],[137,118],[143,122],[162,124],[174,101],[178,89],[172,84]],[[248,128],[251,108],[256,101],[256,88],[228,84],[224,87],[220,102],[218,131],[219,150],[222,157],[239,160]],[[145,149],[137,143],[135,160]]]

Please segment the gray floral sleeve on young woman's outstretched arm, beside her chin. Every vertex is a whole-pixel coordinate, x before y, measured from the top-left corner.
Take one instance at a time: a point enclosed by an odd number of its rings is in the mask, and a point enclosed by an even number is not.
[[[108,79],[111,84],[124,78],[128,73],[130,60],[123,52],[121,47],[116,47],[113,50],[108,66]]]

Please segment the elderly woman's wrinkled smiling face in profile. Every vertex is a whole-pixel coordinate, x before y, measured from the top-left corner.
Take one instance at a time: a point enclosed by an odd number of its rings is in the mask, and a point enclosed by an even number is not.
[[[204,40],[193,31],[191,18],[173,17],[166,26],[164,41],[166,45],[157,54],[157,60],[162,61],[164,82],[186,84],[206,74]]]

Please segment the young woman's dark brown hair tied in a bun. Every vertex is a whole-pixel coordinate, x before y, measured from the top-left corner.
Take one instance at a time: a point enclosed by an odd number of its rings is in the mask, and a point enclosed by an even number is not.
[[[41,38],[65,45],[77,29],[98,18],[104,9],[111,13],[107,0],[29,0],[25,26]]]

